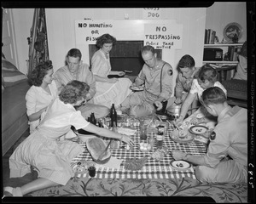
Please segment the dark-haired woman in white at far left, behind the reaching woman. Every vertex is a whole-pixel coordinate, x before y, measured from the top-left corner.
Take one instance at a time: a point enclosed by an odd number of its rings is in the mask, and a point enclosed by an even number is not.
[[[29,82],[32,87],[26,92],[26,115],[30,133],[38,126],[42,114],[48,105],[58,96],[58,89],[53,80],[53,66],[50,60],[38,64],[32,71]]]

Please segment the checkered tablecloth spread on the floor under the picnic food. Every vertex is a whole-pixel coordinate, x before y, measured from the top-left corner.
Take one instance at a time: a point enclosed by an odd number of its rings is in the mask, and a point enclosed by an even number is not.
[[[188,144],[177,144],[172,141],[170,138],[171,130],[168,130],[164,140],[164,146],[168,148],[169,151],[172,150],[182,150],[183,152],[195,155],[202,156],[206,153],[206,146],[200,142],[193,140]],[[112,156],[117,159],[123,159],[119,169],[113,167],[96,167],[96,178],[195,178],[195,172],[193,167],[190,167],[184,171],[177,171],[173,169],[170,165],[170,162],[173,161],[172,154],[166,154],[166,156],[161,161],[155,161],[153,158],[149,157],[148,161],[145,163],[143,168],[138,171],[131,171],[125,169],[125,159],[137,157],[138,159],[152,154],[156,147],[154,146],[153,150],[150,150],[149,153],[144,153],[138,149],[139,143],[142,142],[139,135],[139,130],[137,133],[131,135],[131,139],[135,142],[137,147],[134,147],[130,150],[118,149],[111,150]],[[108,139],[106,139],[108,140]],[[73,141],[79,142],[78,138],[73,139]],[[79,161],[92,161],[90,153],[86,148],[85,143],[79,143],[84,146],[85,150],[82,154],[73,159],[71,166],[73,167]],[[88,173],[76,174],[76,177],[83,178],[88,177]]]

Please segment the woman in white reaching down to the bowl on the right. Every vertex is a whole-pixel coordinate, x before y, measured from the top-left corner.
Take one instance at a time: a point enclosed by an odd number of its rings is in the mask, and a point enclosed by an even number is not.
[[[207,127],[209,128],[213,128],[215,126],[216,118],[211,116],[203,105],[201,105],[201,107],[192,115],[183,120],[196,95],[198,96],[201,104],[203,104],[201,95],[204,90],[211,87],[221,88],[224,91],[224,94],[227,95],[227,90],[220,82],[218,82],[218,72],[212,68],[211,65],[203,65],[201,70],[198,72],[198,77],[193,80],[189,94],[183,102],[180,116],[177,119],[177,125],[180,125],[181,128],[186,128],[189,127],[189,125],[191,126],[199,123],[207,123]]]

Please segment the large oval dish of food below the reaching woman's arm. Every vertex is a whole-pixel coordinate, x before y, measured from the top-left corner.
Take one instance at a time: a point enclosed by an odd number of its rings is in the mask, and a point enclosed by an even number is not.
[[[110,160],[111,151],[108,149],[101,160],[98,160],[102,152],[106,149],[107,144],[103,139],[94,137],[86,140],[87,150],[90,152],[90,156],[96,163],[104,164]]]

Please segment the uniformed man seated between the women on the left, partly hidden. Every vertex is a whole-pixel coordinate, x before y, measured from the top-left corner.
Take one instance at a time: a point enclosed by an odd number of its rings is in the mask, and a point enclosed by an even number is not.
[[[58,69],[54,74],[57,87],[61,89],[67,82],[73,80],[86,82],[90,86],[86,99],[88,103],[81,105],[78,110],[81,111],[85,119],[87,119],[92,112],[95,113],[96,118],[108,116],[108,107],[94,104],[93,97],[96,94],[96,80],[89,70],[89,65],[83,64],[81,58],[82,54],[79,49],[72,48],[68,51],[66,58],[67,65]]]

